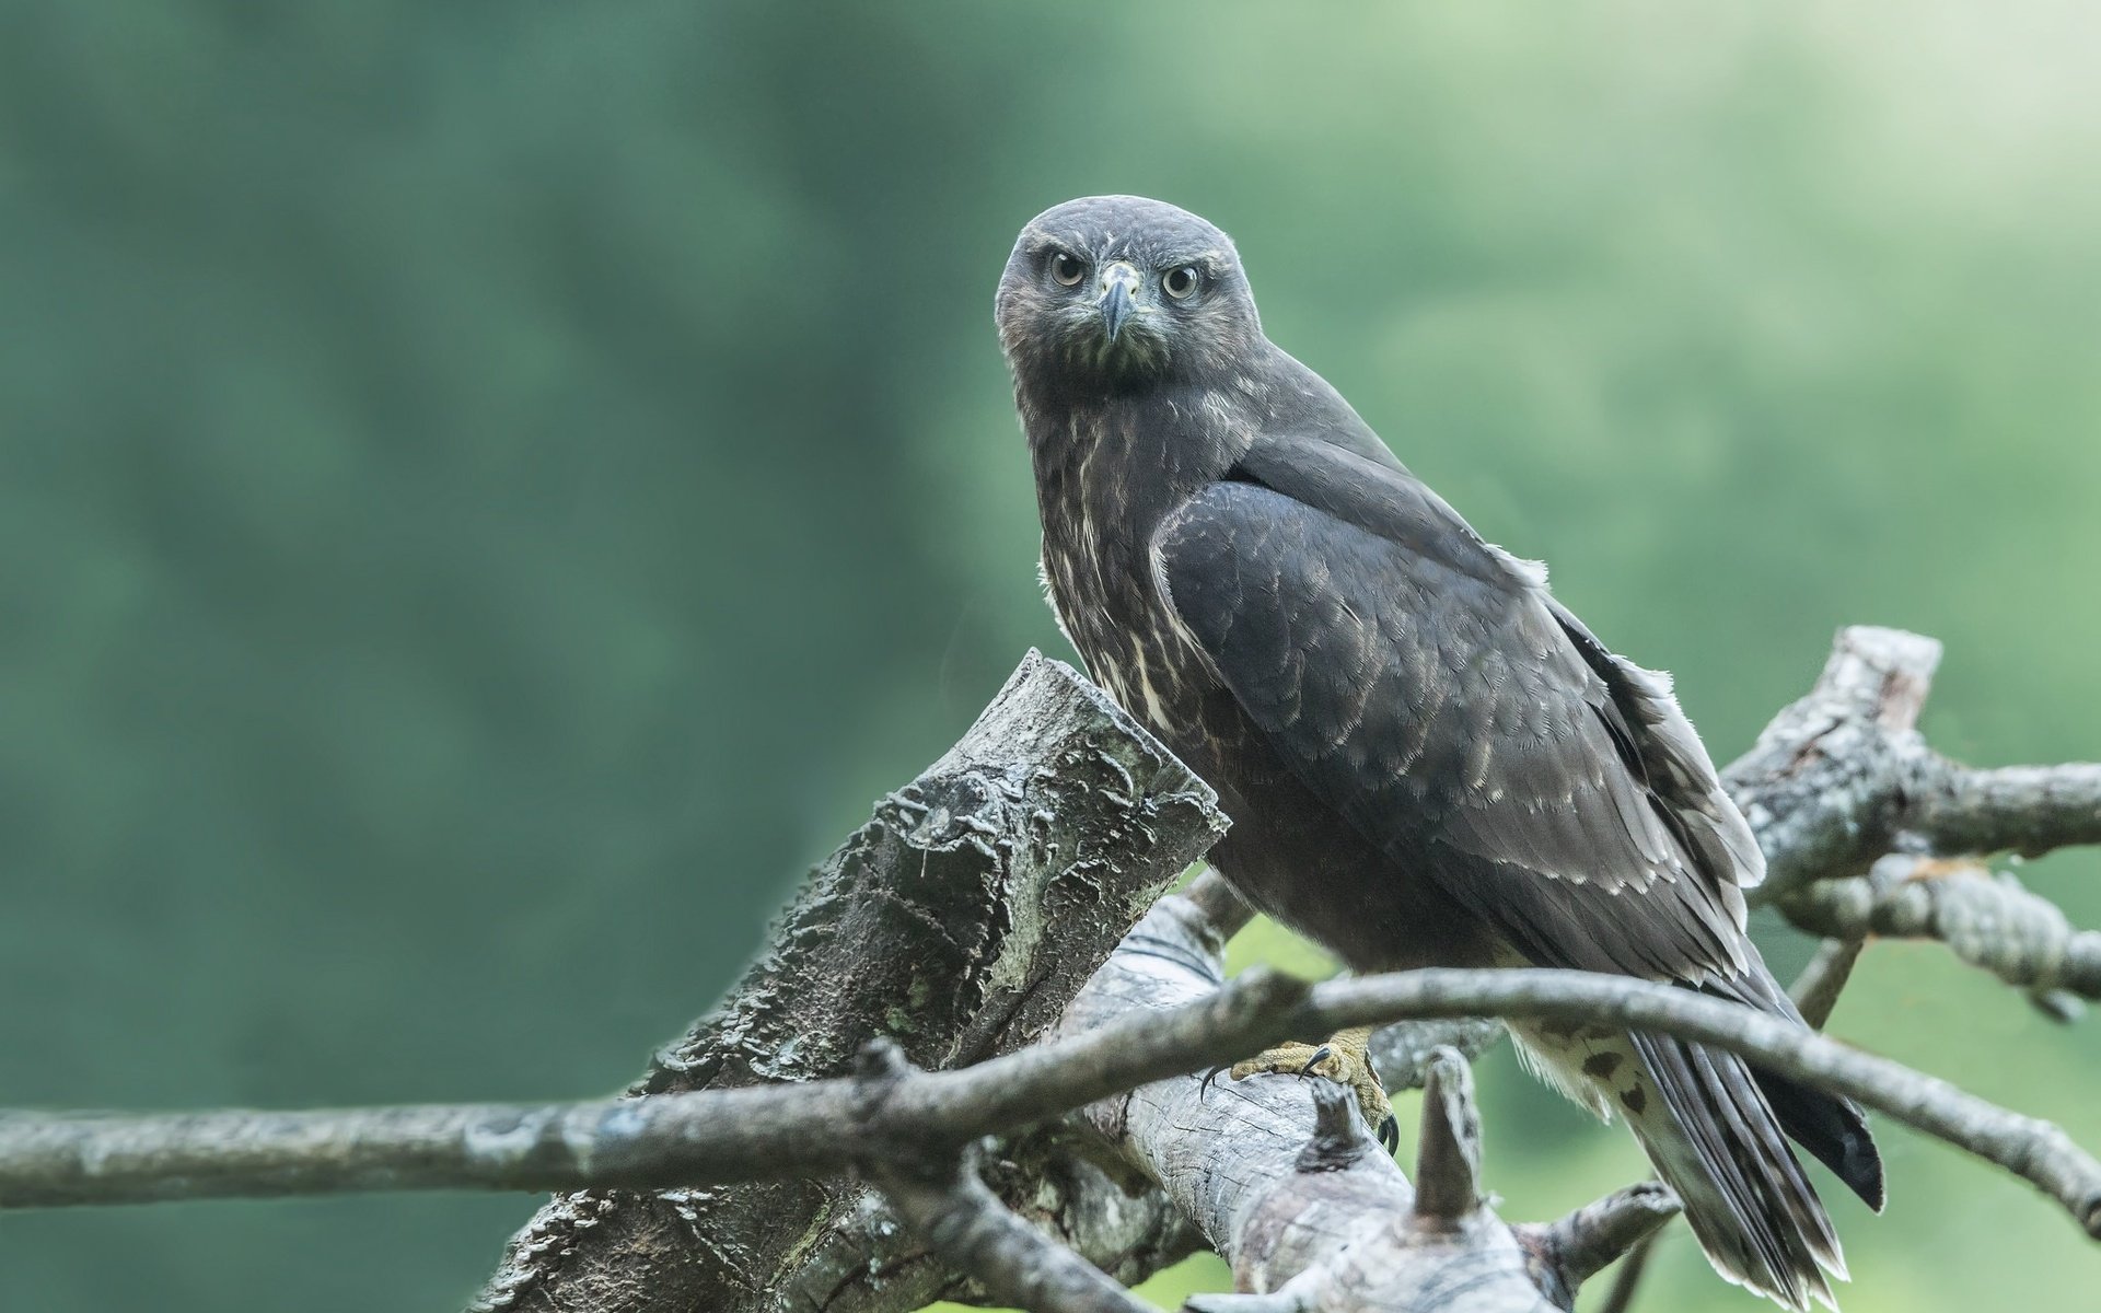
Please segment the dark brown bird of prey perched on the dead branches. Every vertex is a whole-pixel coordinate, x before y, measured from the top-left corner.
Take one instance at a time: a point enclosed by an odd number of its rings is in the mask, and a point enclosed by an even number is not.
[[[1744,933],[1765,861],[1668,679],[1263,336],[1225,233],[1130,195],[1055,206],[996,321],[1059,624],[1219,790],[1212,861],[1254,908],[1355,971],[1601,971],[1801,1023]],[[1664,1036],[1513,1031],[1626,1116],[1717,1271],[1830,1302],[1838,1237],[1786,1137],[1880,1208],[1853,1103]]]

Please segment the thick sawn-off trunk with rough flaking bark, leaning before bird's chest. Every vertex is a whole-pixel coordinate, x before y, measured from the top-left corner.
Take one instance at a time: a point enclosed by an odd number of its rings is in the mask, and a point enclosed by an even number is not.
[[[630,1092],[838,1076],[876,1036],[922,1067],[1019,1048],[1223,828],[1208,786],[1072,668],[1029,653],[962,742],[811,874],[767,954]],[[805,1271],[807,1252],[836,1275],[836,1237],[853,1233],[838,1223],[887,1221],[872,1212],[851,1179],[559,1195],[473,1307],[815,1300],[828,1273]]]

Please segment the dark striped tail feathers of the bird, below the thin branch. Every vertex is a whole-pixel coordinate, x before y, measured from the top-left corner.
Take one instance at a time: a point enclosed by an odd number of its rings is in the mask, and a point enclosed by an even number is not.
[[[1719,1048],[1668,1036],[1630,1038],[1647,1076],[1643,1095],[1653,1097],[1620,1103],[1656,1174],[1683,1200],[1685,1221],[1714,1271],[1790,1309],[1807,1309],[1811,1298],[1836,1309],[1824,1273],[1845,1279],[1845,1254],[1761,1078]],[[1857,1122],[1857,1111],[1838,1101],[1801,1086],[1788,1092],[1811,1101],[1790,1122],[1840,1113]],[[1859,1181],[1849,1185],[1861,1189]],[[1874,1191],[1880,1193],[1880,1168]]]

